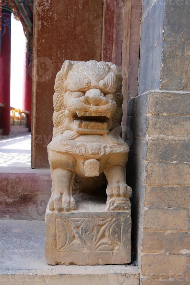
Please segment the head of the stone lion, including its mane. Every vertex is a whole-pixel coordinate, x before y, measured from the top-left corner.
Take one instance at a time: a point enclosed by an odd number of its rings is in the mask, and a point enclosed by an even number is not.
[[[65,130],[105,135],[120,128],[121,88],[115,64],[65,60],[55,79],[53,137]]]

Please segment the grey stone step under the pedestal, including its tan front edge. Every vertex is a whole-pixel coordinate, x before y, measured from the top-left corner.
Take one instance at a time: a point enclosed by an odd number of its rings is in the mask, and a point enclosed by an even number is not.
[[[0,220],[0,229],[0,284],[139,284],[134,265],[48,265],[44,221]]]

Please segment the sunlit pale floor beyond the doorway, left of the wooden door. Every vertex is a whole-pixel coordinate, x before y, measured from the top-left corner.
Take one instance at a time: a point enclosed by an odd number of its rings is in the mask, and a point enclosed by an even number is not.
[[[31,166],[31,133],[0,138],[0,166]]]

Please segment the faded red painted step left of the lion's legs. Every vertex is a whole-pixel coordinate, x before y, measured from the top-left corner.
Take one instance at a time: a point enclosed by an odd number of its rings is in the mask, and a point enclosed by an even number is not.
[[[45,219],[51,173],[28,167],[0,168],[0,218]]]

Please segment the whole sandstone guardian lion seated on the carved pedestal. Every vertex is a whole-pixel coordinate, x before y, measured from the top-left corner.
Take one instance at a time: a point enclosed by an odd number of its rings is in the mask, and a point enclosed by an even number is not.
[[[76,209],[74,177],[107,179],[107,211],[129,210],[129,147],[121,138],[122,75],[111,62],[65,60],[55,79],[49,210]]]

